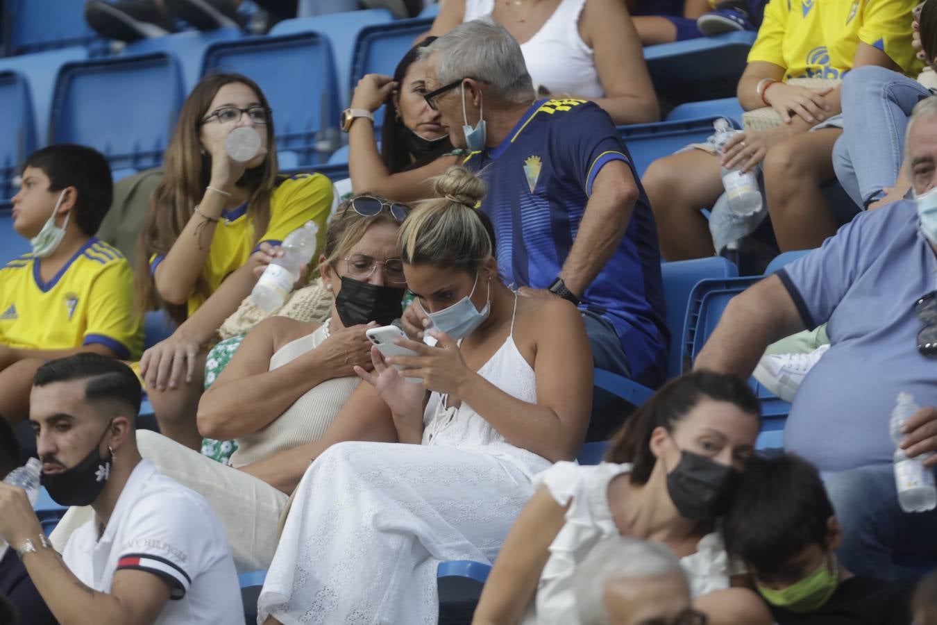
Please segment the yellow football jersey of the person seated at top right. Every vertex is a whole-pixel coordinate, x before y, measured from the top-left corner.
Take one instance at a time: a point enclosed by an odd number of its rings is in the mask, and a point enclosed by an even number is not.
[[[923,66],[911,47],[911,11],[919,1],[771,0],[749,62],[784,67],[785,81],[842,78],[862,41],[916,75]]]

